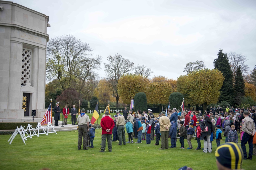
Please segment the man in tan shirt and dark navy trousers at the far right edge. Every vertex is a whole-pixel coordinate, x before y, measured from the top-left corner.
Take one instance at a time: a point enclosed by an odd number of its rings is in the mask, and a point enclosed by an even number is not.
[[[253,150],[252,140],[255,134],[255,125],[254,125],[254,121],[249,117],[248,111],[244,111],[243,116],[244,116],[244,119],[242,120],[242,131],[244,132],[244,134],[241,141],[241,148],[243,150],[243,155],[244,155],[243,159],[252,160],[252,150]],[[247,158],[247,152],[245,147],[247,142],[249,144],[248,158]]]

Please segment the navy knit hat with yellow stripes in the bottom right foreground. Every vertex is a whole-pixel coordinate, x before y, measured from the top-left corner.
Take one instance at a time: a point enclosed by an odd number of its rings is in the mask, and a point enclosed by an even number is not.
[[[227,142],[220,145],[215,152],[215,157],[224,167],[242,169],[243,151],[234,142]]]

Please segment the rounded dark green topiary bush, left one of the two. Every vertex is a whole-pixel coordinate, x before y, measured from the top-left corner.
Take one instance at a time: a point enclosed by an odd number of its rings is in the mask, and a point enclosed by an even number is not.
[[[141,113],[147,110],[147,96],[143,92],[136,93],[134,96],[134,112],[137,113],[137,110],[141,110]]]

